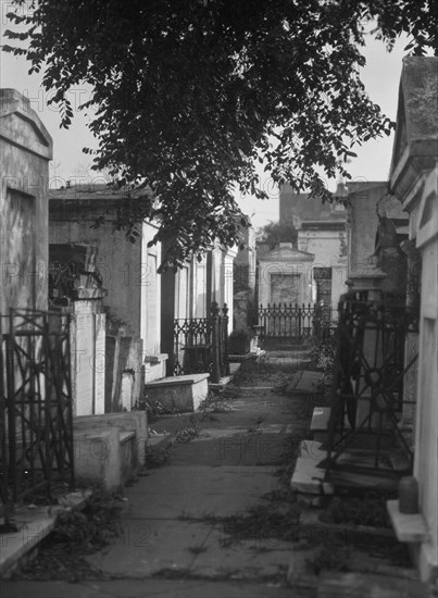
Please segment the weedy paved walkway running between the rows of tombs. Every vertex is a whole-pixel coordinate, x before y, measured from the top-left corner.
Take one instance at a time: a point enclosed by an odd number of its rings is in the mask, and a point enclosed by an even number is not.
[[[168,462],[125,488],[123,532],[86,557],[91,578],[88,572],[75,583],[3,581],[2,595],[289,597],[292,544],[270,511],[278,508],[277,495],[288,494],[293,438],[304,437],[315,403],[312,396],[276,393],[278,374],[243,374],[239,384],[212,411],[150,423],[154,432],[170,433],[161,449],[170,438],[191,439],[174,441]],[[302,587],[293,596],[311,594]]]

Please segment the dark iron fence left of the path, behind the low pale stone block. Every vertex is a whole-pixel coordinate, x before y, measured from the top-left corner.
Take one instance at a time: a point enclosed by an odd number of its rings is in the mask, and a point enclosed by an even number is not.
[[[211,306],[209,317],[185,317],[174,321],[173,372],[175,376],[210,373],[217,383],[229,373],[228,308]]]

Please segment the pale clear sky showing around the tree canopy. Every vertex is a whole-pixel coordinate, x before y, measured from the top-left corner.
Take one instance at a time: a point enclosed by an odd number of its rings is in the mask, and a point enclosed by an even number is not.
[[[10,2],[0,0],[1,33],[11,25],[5,18]],[[2,39],[1,43],[8,43]],[[362,68],[362,80],[371,99],[380,105],[383,112],[392,120],[397,116],[398,90],[405,39],[397,42],[392,52],[388,53],[380,41],[368,37],[363,49],[366,65]],[[77,183],[89,180],[90,175],[102,180],[102,175],[90,173],[91,158],[83,153],[84,147],[96,148],[97,141],[87,128],[86,115],[77,107],[87,100],[89,88],[76,87],[71,91],[70,100],[74,109],[71,127],[60,128],[60,114],[55,107],[48,104],[50,96],[41,85],[42,74],[28,75],[28,63],[23,57],[13,57],[0,52],[0,86],[14,88],[30,100],[32,108],[38,113],[45,126],[53,138],[53,160],[50,165],[50,186],[60,187],[67,179]],[[354,179],[387,180],[392,153],[393,134],[390,137],[370,140],[354,151],[354,158],[349,164],[349,172]],[[278,220],[278,189],[271,180],[268,173],[260,172],[262,187],[268,192],[268,200],[245,198],[239,194],[236,198],[243,212],[251,216],[254,227]],[[335,190],[336,182],[328,182],[330,190]]]

